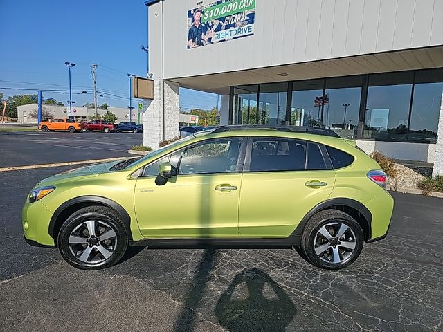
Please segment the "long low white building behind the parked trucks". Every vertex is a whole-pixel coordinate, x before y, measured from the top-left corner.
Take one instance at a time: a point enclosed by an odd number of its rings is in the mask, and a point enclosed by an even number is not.
[[[118,122],[129,121],[131,119],[137,124],[143,123],[143,110],[132,110],[132,115],[129,114],[129,109],[122,107],[108,107],[107,109],[97,109],[97,113],[103,116],[107,111],[114,113]],[[69,118],[69,106],[56,106],[42,104],[42,114],[51,115],[53,118]],[[72,116],[75,121],[89,121],[96,115],[96,110],[88,107],[73,107]],[[42,116],[44,120],[44,116]],[[17,121],[24,123],[37,123],[37,104],[28,104],[17,107]]]

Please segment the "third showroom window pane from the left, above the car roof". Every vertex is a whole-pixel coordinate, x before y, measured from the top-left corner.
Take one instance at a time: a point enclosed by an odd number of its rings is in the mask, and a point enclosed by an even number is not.
[[[291,125],[314,126],[320,124],[321,102],[325,80],[309,80],[293,82]]]

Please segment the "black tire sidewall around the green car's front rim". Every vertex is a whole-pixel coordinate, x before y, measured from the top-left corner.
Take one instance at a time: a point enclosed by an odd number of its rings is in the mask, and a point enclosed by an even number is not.
[[[95,221],[105,221],[117,234],[117,246],[112,255],[106,259],[105,261],[100,262],[99,264],[87,264],[80,259],[77,259],[71,249],[69,248],[69,236],[71,232],[81,223],[88,220]],[[60,250],[60,254],[62,257],[74,266],[75,268],[80,268],[82,270],[97,270],[100,268],[107,268],[116,264],[122,257],[125,255],[125,251],[127,248],[128,237],[125,228],[120,225],[117,221],[112,219],[110,216],[105,214],[101,214],[99,212],[87,212],[84,214],[80,214],[77,216],[70,217],[60,229],[58,234],[58,247]]]

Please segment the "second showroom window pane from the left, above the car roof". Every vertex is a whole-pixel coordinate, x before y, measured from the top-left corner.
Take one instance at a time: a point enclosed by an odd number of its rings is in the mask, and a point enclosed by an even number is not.
[[[287,83],[260,85],[260,124],[284,124],[286,120]]]

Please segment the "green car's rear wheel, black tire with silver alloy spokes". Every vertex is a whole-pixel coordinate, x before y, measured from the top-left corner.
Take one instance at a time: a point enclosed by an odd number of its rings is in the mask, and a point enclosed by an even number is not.
[[[340,235],[338,233],[341,227],[346,231],[341,237],[336,237]],[[327,234],[329,239],[322,233]],[[363,230],[349,214],[339,210],[323,210],[314,214],[305,225],[301,249],[312,265],[327,270],[339,270],[359,257],[363,249]],[[322,251],[323,249],[325,250]]]

